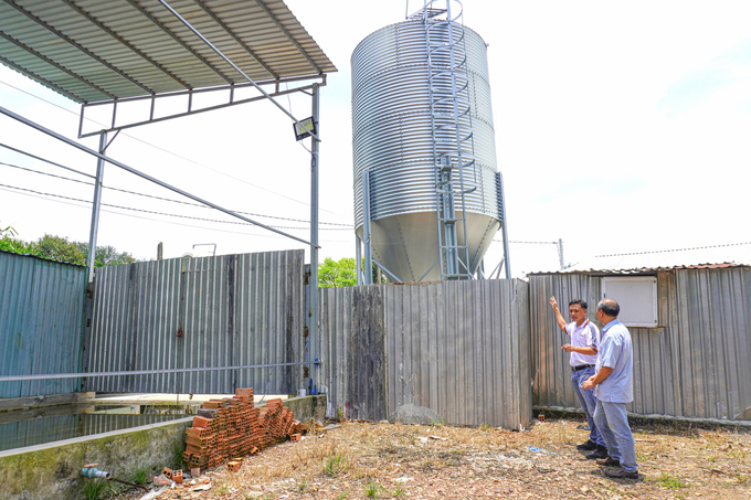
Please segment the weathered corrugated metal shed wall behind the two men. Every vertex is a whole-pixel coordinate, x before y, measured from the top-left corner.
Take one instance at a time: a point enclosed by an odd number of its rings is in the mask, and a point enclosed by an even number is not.
[[[583,298],[590,318],[600,277],[530,276],[535,403],[578,407],[569,362],[548,298]],[[751,419],[751,268],[657,273],[660,328],[630,328],[634,344],[634,402],[630,411],[680,417]],[[617,298],[616,298],[617,299]],[[565,313],[563,307],[561,310]]]

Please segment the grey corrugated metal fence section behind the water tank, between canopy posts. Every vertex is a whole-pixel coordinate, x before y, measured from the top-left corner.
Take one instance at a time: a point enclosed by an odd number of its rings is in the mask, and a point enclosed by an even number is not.
[[[293,363],[305,355],[304,251],[178,258],[97,270],[86,369]],[[98,392],[288,393],[303,366],[94,377]]]

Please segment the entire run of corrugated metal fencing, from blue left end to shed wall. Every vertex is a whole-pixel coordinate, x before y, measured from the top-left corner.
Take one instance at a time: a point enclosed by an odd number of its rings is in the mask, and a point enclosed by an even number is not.
[[[304,270],[303,251],[101,268],[82,365],[85,268],[0,252],[0,374],[302,362]],[[630,409],[751,419],[751,268],[662,270],[657,287],[660,328],[631,329]],[[561,305],[584,298],[593,318],[601,276],[318,294],[318,381],[329,395],[329,414],[341,406],[349,417],[516,427],[530,417],[532,398],[578,406],[560,349],[565,339],[548,298],[554,295]],[[293,393],[303,375],[303,366],[128,375],[92,377],[84,389]],[[0,397],[75,392],[77,382],[3,382]]]

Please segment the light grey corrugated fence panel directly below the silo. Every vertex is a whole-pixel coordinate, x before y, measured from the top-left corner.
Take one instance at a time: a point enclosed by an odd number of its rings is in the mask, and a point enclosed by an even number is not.
[[[517,428],[531,417],[527,285],[388,287],[389,415]]]

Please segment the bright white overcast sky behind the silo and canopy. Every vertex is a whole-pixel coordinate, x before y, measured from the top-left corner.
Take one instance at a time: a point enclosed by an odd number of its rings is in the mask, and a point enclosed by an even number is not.
[[[349,60],[362,39],[422,1],[286,3],[339,70],[321,89],[320,260],[353,257]],[[559,238],[565,264],[584,267],[596,267],[600,255],[636,254],[643,259],[633,265],[656,265],[656,256],[677,254],[652,252],[751,242],[751,2],[463,4],[464,23],[488,44],[515,276],[557,269],[551,242]],[[310,115],[305,96],[279,104],[298,118]],[[76,137],[78,106],[6,66],[0,105]],[[8,117],[0,116],[0,131],[2,143],[96,170],[93,157]],[[107,155],[307,240],[309,141],[296,142],[272,104],[255,103],[126,130]],[[78,142],[96,149],[98,139]],[[93,187],[18,167],[91,182],[0,148],[0,227],[12,225],[27,241],[45,233],[87,241]],[[113,166],[104,183],[189,201]],[[103,203],[99,245],[141,259],[156,258],[159,242],[168,258],[210,255],[207,244],[218,254],[306,247],[213,210],[110,189]],[[717,248],[748,254],[751,245]],[[486,269],[501,257],[494,243]],[[681,258],[733,256],[695,251]]]

